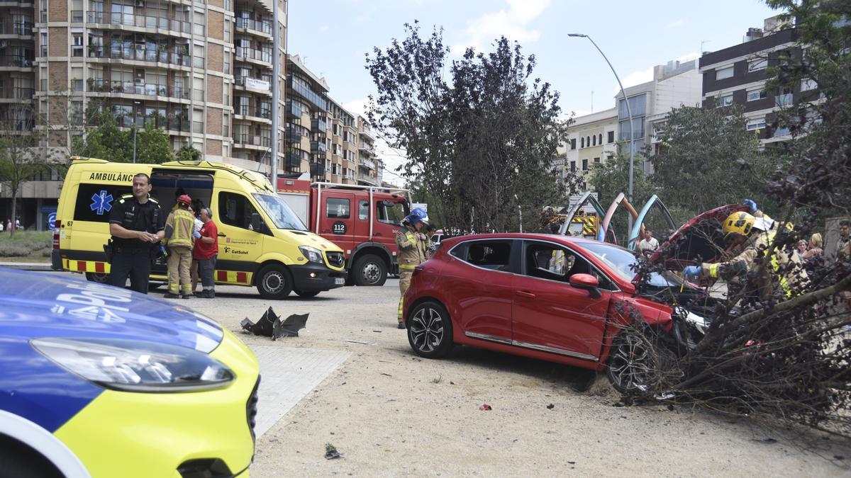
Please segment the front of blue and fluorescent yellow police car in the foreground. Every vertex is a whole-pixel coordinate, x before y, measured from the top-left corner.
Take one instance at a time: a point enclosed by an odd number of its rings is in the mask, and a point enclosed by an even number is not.
[[[233,334],[118,287],[0,284],[0,475],[248,475],[259,367]]]

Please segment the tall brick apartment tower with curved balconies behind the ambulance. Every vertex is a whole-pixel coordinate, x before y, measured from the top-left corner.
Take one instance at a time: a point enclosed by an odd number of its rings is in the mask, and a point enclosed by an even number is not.
[[[287,3],[275,1],[284,65]],[[174,150],[192,145],[208,160],[269,173],[271,115],[283,115],[283,94],[280,108],[271,105],[271,2],[0,2],[0,120],[26,132],[32,118],[10,118],[9,104],[36,104],[51,123],[49,146],[67,154],[85,132],[83,111],[106,111],[121,128],[163,128]],[[285,75],[282,68],[282,91]],[[22,191],[19,213],[43,228],[60,182],[55,173],[37,179]],[[7,197],[0,191],[8,214]]]

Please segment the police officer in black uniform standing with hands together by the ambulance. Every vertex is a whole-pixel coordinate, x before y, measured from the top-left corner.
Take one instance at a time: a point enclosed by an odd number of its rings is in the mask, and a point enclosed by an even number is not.
[[[133,194],[125,194],[112,205],[109,231],[112,235],[110,283],[148,293],[151,262],[158,243],[165,236],[165,218],[159,202],[149,196],[151,178],[140,173],[133,177]]]

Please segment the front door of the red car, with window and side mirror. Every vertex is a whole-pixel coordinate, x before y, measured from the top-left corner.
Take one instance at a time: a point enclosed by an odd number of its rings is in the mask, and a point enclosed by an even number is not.
[[[555,242],[523,241],[521,255],[521,273],[512,277],[513,344],[596,361],[612,295],[605,290],[608,281],[579,253]],[[602,279],[600,297],[568,283],[579,273]]]

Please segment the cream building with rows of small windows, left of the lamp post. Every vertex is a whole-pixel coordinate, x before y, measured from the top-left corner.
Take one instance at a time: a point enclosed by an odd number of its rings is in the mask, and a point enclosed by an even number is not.
[[[558,159],[553,163],[561,179],[570,172],[582,178],[583,191],[588,189],[589,174],[593,165],[604,162],[617,149],[615,134],[618,115],[615,108],[575,117],[568,126],[567,143],[558,148]]]

